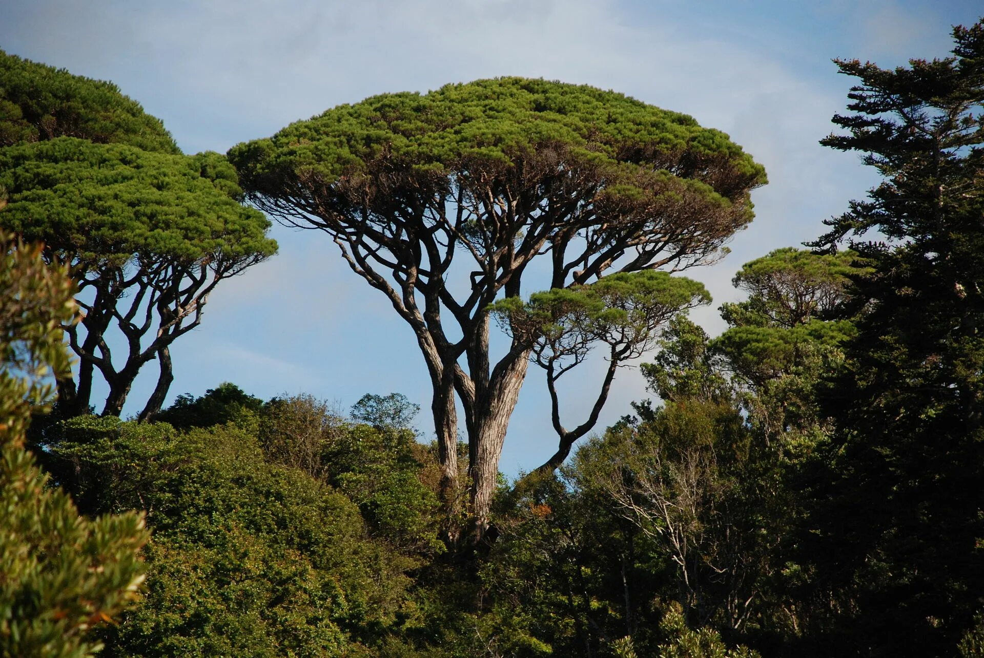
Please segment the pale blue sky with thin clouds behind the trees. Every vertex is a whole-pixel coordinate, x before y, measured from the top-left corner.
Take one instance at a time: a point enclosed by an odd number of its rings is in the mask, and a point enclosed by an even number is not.
[[[877,181],[857,155],[818,145],[851,85],[830,60],[944,57],[951,27],[981,15],[981,0],[0,0],[0,48],[111,80],[188,153],[225,152],[375,93],[496,76],[593,85],[691,114],[769,174],[731,255],[687,273],[714,297],[693,317],[715,334],[717,306],[739,298],[735,270],[816,238]],[[276,224],[272,235],[279,254],[219,285],[202,327],[173,345],[171,399],[233,382],[344,410],[366,392],[402,392],[421,405],[416,424],[428,436],[429,382],[410,329],[326,235]],[[603,366],[569,376],[568,427],[582,422]],[[155,378],[138,380],[127,412]],[[623,370],[598,429],[646,396],[638,371]],[[501,469],[531,469],[555,448],[531,368]]]

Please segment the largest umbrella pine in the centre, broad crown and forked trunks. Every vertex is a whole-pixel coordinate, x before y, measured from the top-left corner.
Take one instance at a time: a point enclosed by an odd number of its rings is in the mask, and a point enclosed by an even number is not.
[[[229,151],[250,199],[328,233],[416,335],[446,496],[456,396],[481,532],[531,345],[489,349],[490,305],[713,261],[763,168],[726,135],[611,91],[502,78],[341,105]]]

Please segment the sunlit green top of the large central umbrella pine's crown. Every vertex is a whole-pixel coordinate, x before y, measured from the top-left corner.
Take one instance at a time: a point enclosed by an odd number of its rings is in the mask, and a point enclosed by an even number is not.
[[[763,167],[727,135],[690,116],[614,91],[523,78],[372,96],[229,154],[244,187],[267,194],[281,192],[285,176],[329,185],[372,173],[384,160],[422,180],[453,171],[495,175],[510,165],[532,178],[540,167],[574,160],[603,168],[609,193],[626,199],[645,194],[652,176],[688,180],[722,202],[744,201],[766,181]]]

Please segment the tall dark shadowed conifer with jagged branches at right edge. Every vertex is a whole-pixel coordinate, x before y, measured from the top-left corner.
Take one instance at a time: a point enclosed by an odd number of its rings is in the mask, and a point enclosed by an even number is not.
[[[818,243],[872,271],[803,528],[817,655],[954,655],[984,605],[984,25],[953,36],[945,59],[837,62],[857,83],[824,144],[883,180]]]

